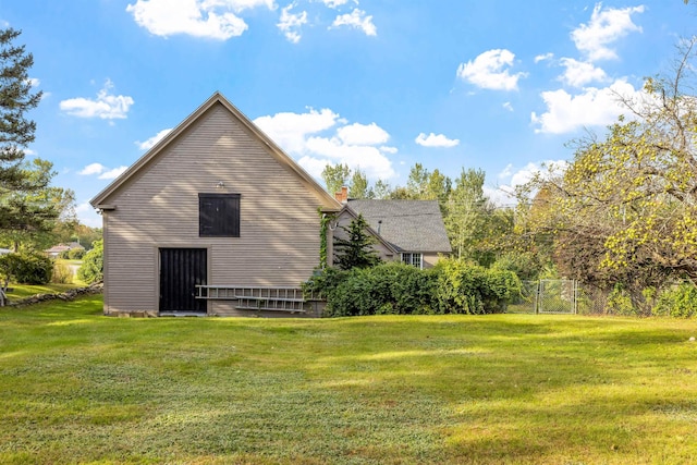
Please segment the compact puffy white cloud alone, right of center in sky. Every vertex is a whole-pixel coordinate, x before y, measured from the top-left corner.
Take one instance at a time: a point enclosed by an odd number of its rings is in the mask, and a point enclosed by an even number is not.
[[[477,87],[493,90],[515,90],[518,79],[526,73],[510,73],[515,54],[510,50],[494,49],[485,51],[474,61],[462,63],[457,68],[457,76]]]

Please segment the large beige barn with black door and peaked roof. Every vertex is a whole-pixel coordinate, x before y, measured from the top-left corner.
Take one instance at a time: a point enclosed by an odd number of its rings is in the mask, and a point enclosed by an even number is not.
[[[220,94],[90,204],[105,314],[151,316],[311,314],[295,289],[319,265],[318,210],[342,207]]]

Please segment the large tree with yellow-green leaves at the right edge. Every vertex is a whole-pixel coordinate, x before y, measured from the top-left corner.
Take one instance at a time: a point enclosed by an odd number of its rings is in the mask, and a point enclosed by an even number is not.
[[[674,75],[646,81],[643,100],[622,100],[631,118],[577,140],[563,173],[534,181],[550,201],[530,231],[553,235],[559,268],[623,289],[637,307],[671,277],[697,283],[696,44],[683,42]]]

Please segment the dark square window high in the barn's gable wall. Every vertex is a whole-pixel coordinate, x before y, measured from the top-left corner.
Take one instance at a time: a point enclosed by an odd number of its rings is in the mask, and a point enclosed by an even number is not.
[[[198,235],[240,237],[240,194],[198,194]]]

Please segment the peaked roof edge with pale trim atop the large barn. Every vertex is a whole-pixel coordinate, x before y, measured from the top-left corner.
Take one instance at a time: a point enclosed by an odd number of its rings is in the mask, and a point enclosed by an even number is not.
[[[119,178],[112,181],[107,187],[105,187],[99,194],[97,194],[89,204],[98,209],[110,209],[112,206],[108,205],[110,196],[119,191],[131,178],[136,175],[138,171],[147,166],[150,161],[157,158],[173,140],[175,140],[182,133],[184,133],[189,126],[198,121],[208,110],[216,105],[221,105],[225,108],[233,118],[235,118],[243,126],[245,126],[249,133],[259,140],[260,144],[266,146],[269,154],[277,159],[281,164],[289,168],[295,174],[298,180],[315,194],[321,204],[321,207],[326,211],[339,211],[341,210],[341,204],[327,191],[322,188],[313,176],[310,176],[299,164],[297,164],[288,154],[285,154],[269,136],[267,136],[256,124],[254,124],[242,111],[240,111],[234,105],[232,105],[222,94],[216,91],[208,100],[206,100],[200,107],[198,107],[192,114],[189,114],[183,122],[174,127],[170,133],[158,142],[150,150],[148,150],[143,157],[135,161],[126,171],[124,171]]]

